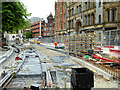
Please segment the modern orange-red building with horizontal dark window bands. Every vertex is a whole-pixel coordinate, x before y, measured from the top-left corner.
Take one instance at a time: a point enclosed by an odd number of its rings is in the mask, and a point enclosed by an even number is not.
[[[30,30],[32,30],[33,37],[43,36],[45,21],[41,20],[30,25]]]

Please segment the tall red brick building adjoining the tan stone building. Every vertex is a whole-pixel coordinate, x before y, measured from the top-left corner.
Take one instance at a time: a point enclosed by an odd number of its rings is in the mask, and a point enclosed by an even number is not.
[[[67,34],[67,3],[58,0],[55,2],[55,36],[58,42],[62,42]]]

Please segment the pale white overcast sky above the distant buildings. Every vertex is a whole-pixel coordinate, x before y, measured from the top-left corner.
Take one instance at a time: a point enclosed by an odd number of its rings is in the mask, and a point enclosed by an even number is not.
[[[47,20],[47,16],[52,13],[55,15],[55,1],[57,0],[20,0],[24,3],[28,13],[32,13],[31,17],[40,17]]]

